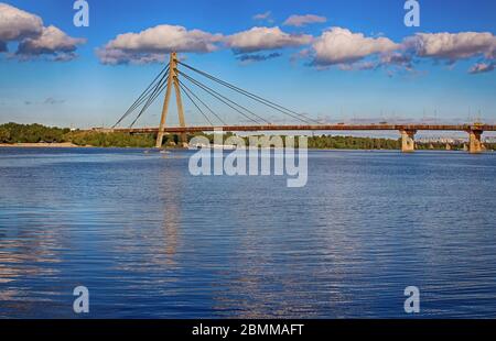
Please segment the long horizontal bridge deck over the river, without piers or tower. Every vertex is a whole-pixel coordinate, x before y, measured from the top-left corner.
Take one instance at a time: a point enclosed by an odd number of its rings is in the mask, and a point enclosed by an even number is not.
[[[103,132],[125,133],[158,133],[159,128],[119,128],[119,129],[93,129]],[[212,132],[216,130],[231,132],[257,131],[390,131],[390,130],[417,130],[417,131],[496,131],[494,124],[315,124],[315,125],[224,125],[224,127],[166,127],[165,133],[195,133]]]

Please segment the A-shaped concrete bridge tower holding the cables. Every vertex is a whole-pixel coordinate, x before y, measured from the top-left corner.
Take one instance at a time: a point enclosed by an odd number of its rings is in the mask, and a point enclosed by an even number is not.
[[[168,119],[169,105],[171,101],[172,87],[174,87],[174,90],[175,90],[175,101],[177,105],[177,116],[179,116],[180,127],[181,128],[186,127],[186,123],[184,121],[183,100],[181,98],[181,89],[180,89],[180,82],[179,82],[177,77],[179,77],[177,53],[173,52],[173,53],[171,53],[170,61],[169,61],[168,87],[165,90],[165,98],[163,100],[162,117],[160,118],[159,133],[157,134],[155,147],[158,147],[158,148],[162,147],[165,121]],[[187,140],[186,133],[181,133],[180,143],[182,144],[182,146],[185,146],[187,144],[186,140]]]

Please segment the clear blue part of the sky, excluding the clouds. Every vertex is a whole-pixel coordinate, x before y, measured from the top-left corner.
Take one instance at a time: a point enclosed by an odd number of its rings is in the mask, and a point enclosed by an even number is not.
[[[419,2],[421,25],[407,28],[403,24],[403,1],[398,0],[88,0],[89,28],[75,28],[72,1],[4,1],[40,16],[44,26],[55,25],[67,36],[85,38],[86,42],[77,44],[74,51],[77,56],[71,57],[71,61],[54,62],[50,55],[43,54],[20,58],[14,55],[19,41],[9,41],[9,52],[0,54],[0,122],[74,124],[82,128],[114,123],[160,72],[162,65],[108,65],[103,63],[96,50],[103,48],[118,34],[140,33],[158,25],[180,25],[186,31],[201,30],[212,35],[219,34],[227,41],[229,36],[255,26],[279,26],[288,36],[304,35],[312,40],[319,40],[331,28],[342,28],[351,34],[363,34],[364,38],[374,40],[368,41],[374,48],[384,47],[384,44],[378,44],[380,37],[388,40],[388,44],[399,45],[417,33],[486,32],[493,34],[494,38],[494,1]],[[267,19],[254,19],[256,14],[269,11]],[[303,14],[325,18],[325,22],[305,26],[283,24],[290,15]],[[494,68],[494,59],[476,51],[467,56],[462,55],[463,46],[444,54],[434,52],[429,55],[425,51],[417,51],[411,65],[407,67],[391,64],[379,66],[377,63],[382,56],[379,53],[370,53],[358,59],[344,57],[344,62],[335,62],[337,47],[330,45],[326,45],[328,51],[319,58],[311,42],[290,43],[274,48],[262,46],[263,48],[256,47],[256,51],[245,50],[245,53],[235,53],[234,43],[229,43],[229,47],[223,45],[226,43],[215,44],[213,52],[188,52],[181,55],[190,65],[299,112],[308,112],[314,118],[325,118],[328,121],[436,119],[460,122],[481,117],[487,122],[496,122],[496,73],[468,73],[476,64],[493,65]],[[166,48],[159,51],[164,59],[165,51]],[[388,53],[398,52],[388,50]],[[277,54],[278,57],[254,63],[241,63],[239,59],[241,55],[270,54]],[[300,57],[295,58],[296,55]],[[446,55],[454,57],[448,58]],[[315,61],[320,65],[315,65]],[[369,65],[374,67],[365,67]],[[150,108],[139,125],[158,124],[161,99]],[[190,124],[204,123],[186,99],[185,103],[186,121]],[[239,117],[229,112],[228,108],[213,106],[226,120],[240,122]],[[263,116],[274,121],[284,121],[273,112],[263,112]],[[175,112],[168,122],[175,124]]]

